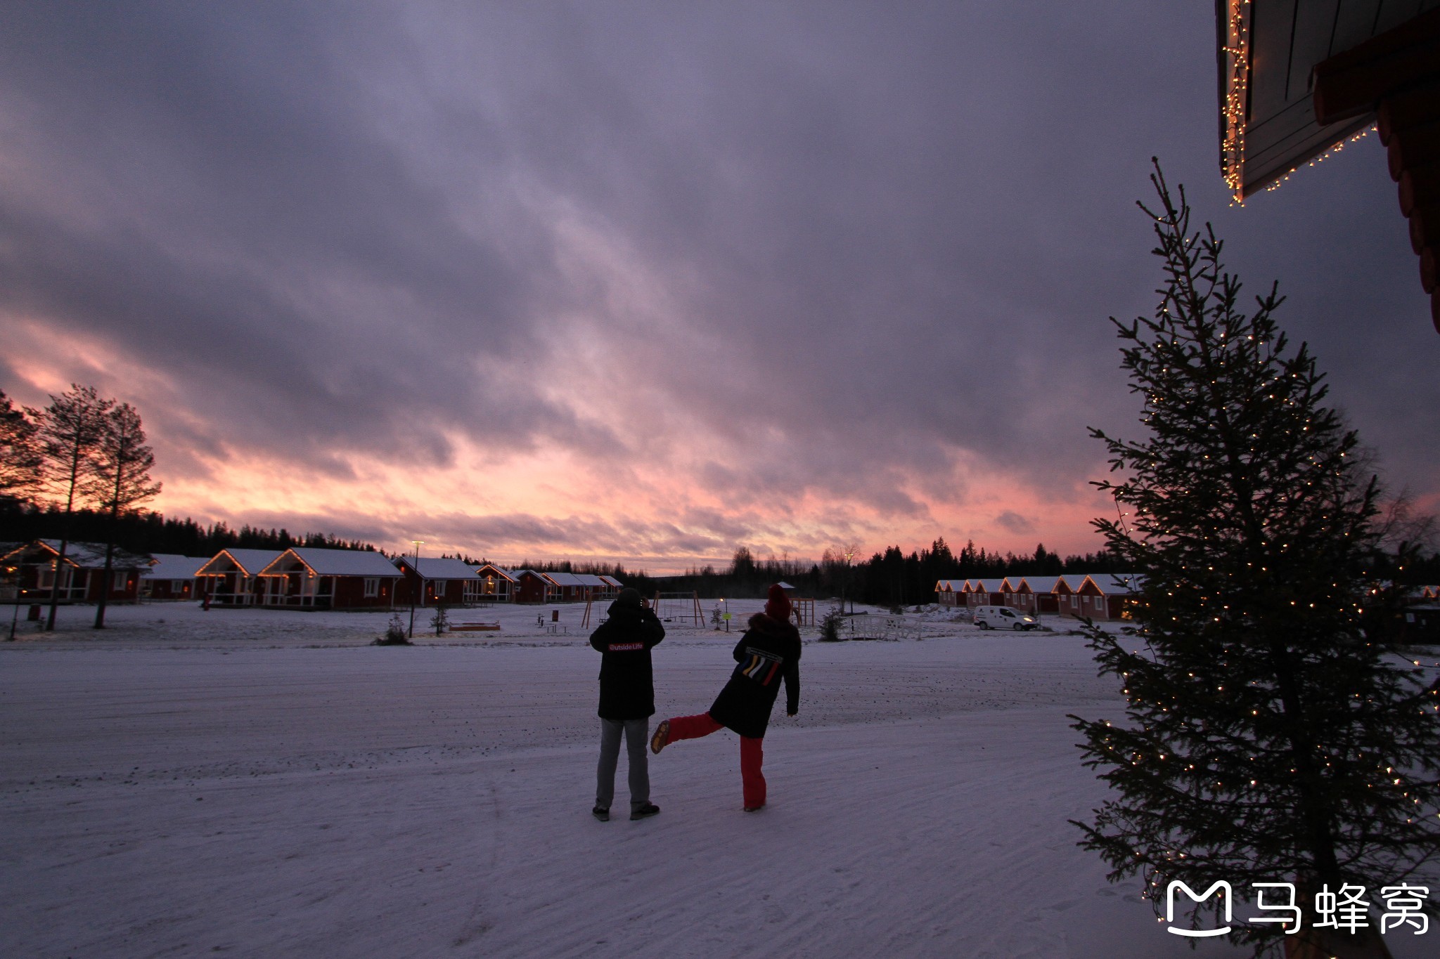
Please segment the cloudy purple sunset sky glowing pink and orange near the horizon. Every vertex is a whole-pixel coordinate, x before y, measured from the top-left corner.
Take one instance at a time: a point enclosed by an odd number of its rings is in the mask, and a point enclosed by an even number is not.
[[[1440,509],[1374,135],[1231,207],[1214,9],[12,3],[0,390],[134,404],[199,520],[652,572],[1093,551],[1158,155]]]

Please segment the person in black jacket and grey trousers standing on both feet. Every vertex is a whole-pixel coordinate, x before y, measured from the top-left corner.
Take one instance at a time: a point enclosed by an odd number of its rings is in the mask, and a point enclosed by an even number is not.
[[[615,799],[615,766],[621,756],[621,733],[629,752],[631,818],[660,812],[649,801],[649,758],[645,738],[655,715],[655,676],[649,651],[665,638],[665,627],[645,607],[639,591],[619,591],[605,623],[590,634],[600,653],[600,765],[595,772],[595,818],[611,818]]]

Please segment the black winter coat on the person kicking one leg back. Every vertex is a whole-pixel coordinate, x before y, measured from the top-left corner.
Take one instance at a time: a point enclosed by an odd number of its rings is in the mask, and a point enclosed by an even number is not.
[[[792,623],[763,612],[750,617],[750,628],[734,644],[734,673],[724,684],[710,717],[742,736],[760,739],[770,725],[770,709],[785,677],[785,712],[801,707],[801,633]]]

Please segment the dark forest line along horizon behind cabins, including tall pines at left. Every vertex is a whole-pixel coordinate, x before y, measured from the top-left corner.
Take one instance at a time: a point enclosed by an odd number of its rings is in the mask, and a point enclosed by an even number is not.
[[[360,539],[344,539],[325,532],[291,533],[288,529],[262,529],[242,525],[232,529],[225,522],[204,525],[190,518],[167,518],[145,509],[144,503],[160,490],[151,482],[153,457],[144,446],[140,416],[128,404],[99,400],[88,387],[52,397],[46,410],[16,408],[0,391],[0,542],[59,539],[107,543],[137,554],[180,554],[213,556],[220,549],[364,549],[392,555]],[[89,423],[86,423],[86,417]],[[118,417],[118,420],[117,420]],[[115,423],[128,430],[128,447],[105,454],[107,443],[115,446]],[[60,440],[46,431],[62,433]],[[107,439],[109,437],[109,439]],[[107,459],[108,456],[108,459]],[[108,466],[107,466],[108,463]],[[118,480],[118,489],[112,489]],[[449,554],[442,554],[449,555]],[[454,558],[480,565],[456,552]],[[1440,556],[1413,558],[1407,578],[1440,581]],[[505,564],[497,564],[505,565]],[[626,569],[618,562],[602,561],[521,561],[517,569],[540,572],[580,572],[615,577],[645,595],[697,592],[701,598],[763,597],[772,582],[785,581],[802,597],[847,597],[857,602],[897,607],[935,601],[940,579],[1001,578],[1008,575],[1060,575],[1073,572],[1139,572],[1122,569],[1113,554],[1061,556],[1044,543],[1034,552],[988,551],[973,541],[955,552],[945,538],[929,548],[906,552],[894,545],[861,558],[857,546],[827,549],[819,561],[791,556],[757,558],[750,548],[739,546],[724,568],[696,566],[677,575],[651,575]]]

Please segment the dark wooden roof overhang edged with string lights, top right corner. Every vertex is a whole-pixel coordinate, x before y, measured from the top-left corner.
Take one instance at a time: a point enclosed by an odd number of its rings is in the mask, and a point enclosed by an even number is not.
[[[1236,201],[1375,127],[1440,331],[1440,0],[1215,0],[1215,35]]]

